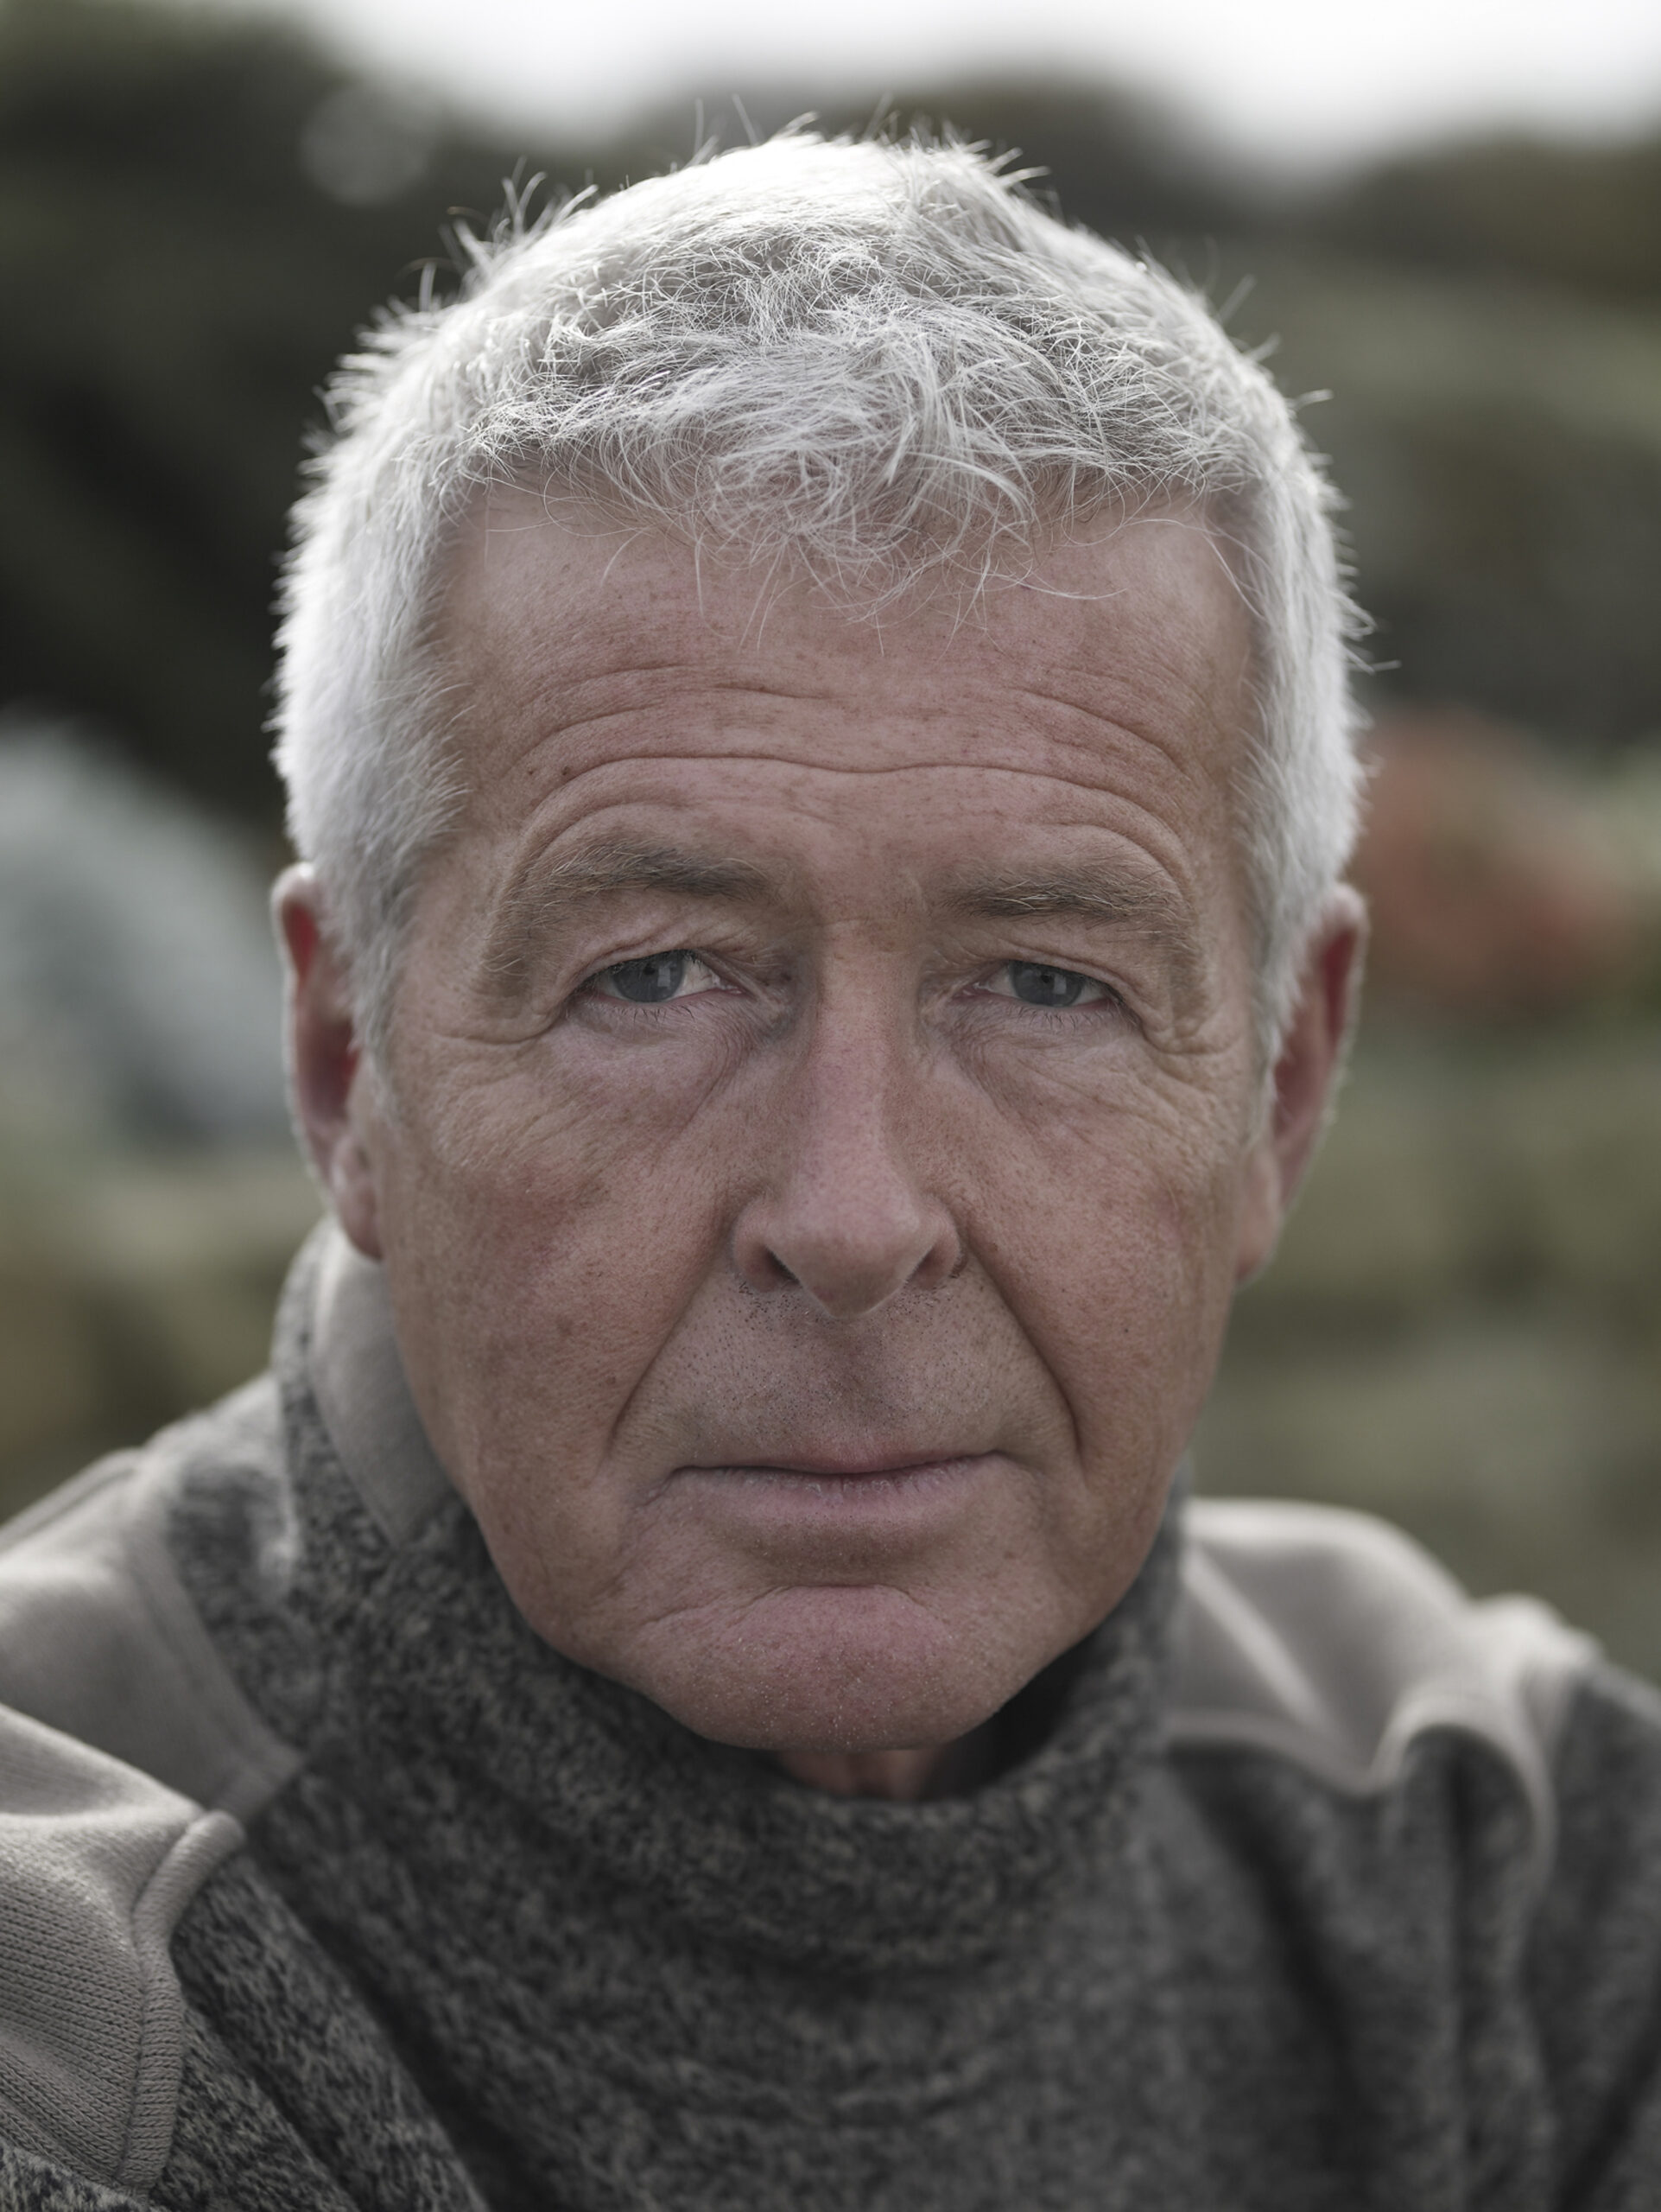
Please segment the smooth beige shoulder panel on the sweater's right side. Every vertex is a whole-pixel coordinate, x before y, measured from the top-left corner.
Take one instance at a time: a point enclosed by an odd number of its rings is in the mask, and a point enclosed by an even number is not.
[[[1590,1637],[1531,1597],[1473,1601],[1407,1535],[1365,1513],[1194,1500],[1185,1515],[1170,1741],[1254,1750],[1347,1796],[1387,1792],[1411,1745],[1486,1745],[1531,1812],[1544,1880],[1555,1765]]]

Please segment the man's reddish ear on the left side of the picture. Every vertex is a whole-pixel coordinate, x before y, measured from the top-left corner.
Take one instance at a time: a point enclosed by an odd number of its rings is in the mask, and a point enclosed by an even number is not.
[[[294,1115],[341,1228],[380,1259],[380,1201],[367,1146],[369,1082],[345,969],[323,927],[316,874],[285,867],[272,916],[288,969],[288,1079]]]

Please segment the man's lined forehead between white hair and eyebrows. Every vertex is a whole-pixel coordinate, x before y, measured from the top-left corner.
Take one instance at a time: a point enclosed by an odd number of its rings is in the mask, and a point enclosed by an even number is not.
[[[871,774],[898,814],[995,812],[1013,779],[1026,810],[1095,799],[1210,827],[1232,814],[1252,661],[1228,564],[1185,513],[1104,522],[969,611],[878,619],[518,491],[471,518],[440,653],[478,830],[677,776],[734,799],[794,776],[845,807]]]

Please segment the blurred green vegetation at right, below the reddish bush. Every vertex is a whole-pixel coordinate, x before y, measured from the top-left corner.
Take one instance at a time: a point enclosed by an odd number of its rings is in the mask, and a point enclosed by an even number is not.
[[[1365,1035],[1199,1486],[1385,1513],[1661,1677],[1659,1130],[1654,1024]]]

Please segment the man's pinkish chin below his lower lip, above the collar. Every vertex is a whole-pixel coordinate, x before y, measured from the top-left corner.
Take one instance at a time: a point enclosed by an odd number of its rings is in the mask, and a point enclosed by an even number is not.
[[[681,1619],[672,1652],[617,1672],[714,1743],[896,1752],[967,1736],[1064,1648],[1000,1635],[971,1606],[955,1619],[894,1588],[834,1586],[770,1593],[706,1635]]]

